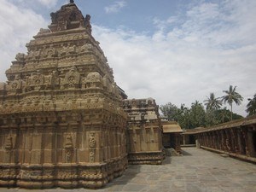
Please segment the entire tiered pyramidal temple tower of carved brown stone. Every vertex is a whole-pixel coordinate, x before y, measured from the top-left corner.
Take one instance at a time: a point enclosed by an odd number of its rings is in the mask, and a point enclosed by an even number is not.
[[[0,186],[100,188],[127,166],[123,98],[90,15],[51,20],[0,84]]]

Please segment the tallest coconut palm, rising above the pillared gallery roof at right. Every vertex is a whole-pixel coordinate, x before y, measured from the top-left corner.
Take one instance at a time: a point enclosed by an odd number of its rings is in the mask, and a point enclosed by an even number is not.
[[[236,86],[233,88],[232,85],[230,85],[229,90],[223,90],[223,92],[226,94],[225,96],[222,96],[222,101],[224,103],[228,102],[231,108],[230,113],[230,119],[232,120],[232,113],[233,113],[233,102],[236,103],[236,105],[240,105],[241,101],[243,100],[243,97],[236,92]]]

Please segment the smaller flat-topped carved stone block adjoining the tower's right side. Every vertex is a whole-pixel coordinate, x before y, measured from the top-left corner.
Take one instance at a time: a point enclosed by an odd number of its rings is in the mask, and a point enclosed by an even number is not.
[[[127,152],[130,164],[161,164],[162,126],[154,99],[123,101],[128,113]]]

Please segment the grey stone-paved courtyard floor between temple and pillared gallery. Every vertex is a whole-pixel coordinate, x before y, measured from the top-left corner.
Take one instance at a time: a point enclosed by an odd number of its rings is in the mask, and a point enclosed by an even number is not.
[[[203,149],[183,148],[183,156],[167,157],[162,166],[129,166],[104,189],[3,189],[1,192],[137,191],[255,192],[256,165]]]

